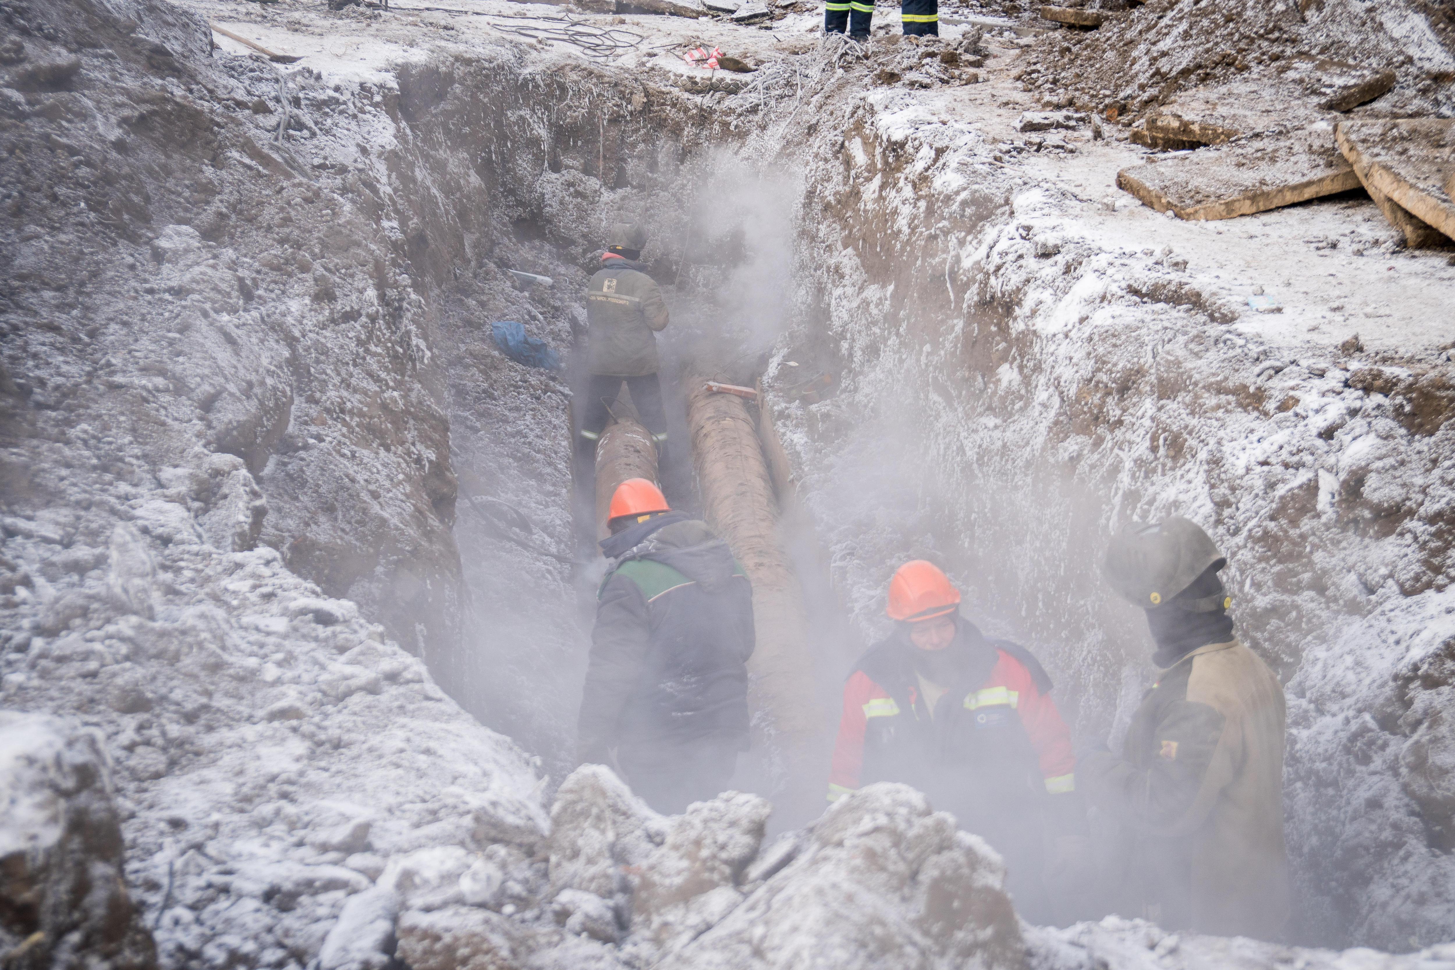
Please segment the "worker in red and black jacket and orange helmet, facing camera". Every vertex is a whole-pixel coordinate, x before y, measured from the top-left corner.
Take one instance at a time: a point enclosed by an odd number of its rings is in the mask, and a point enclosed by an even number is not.
[[[914,785],[1005,858],[1023,916],[1064,922],[1091,865],[1071,733],[1040,663],[986,638],[959,606],[934,564],[895,573],[888,614],[898,628],[844,686],[828,797],[876,781]]]

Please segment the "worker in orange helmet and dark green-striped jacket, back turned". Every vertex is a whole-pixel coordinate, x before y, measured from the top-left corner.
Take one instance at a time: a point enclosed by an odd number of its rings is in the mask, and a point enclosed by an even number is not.
[[[631,790],[677,814],[722,793],[748,747],[752,588],[728,544],[646,478],[623,481],[607,513],[579,759],[614,750]]]

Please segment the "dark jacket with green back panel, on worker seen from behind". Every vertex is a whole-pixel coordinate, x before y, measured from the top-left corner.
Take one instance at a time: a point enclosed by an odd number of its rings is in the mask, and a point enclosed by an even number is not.
[[[597,596],[582,743],[746,749],[752,588],[728,544],[672,512],[601,548],[613,561]]]

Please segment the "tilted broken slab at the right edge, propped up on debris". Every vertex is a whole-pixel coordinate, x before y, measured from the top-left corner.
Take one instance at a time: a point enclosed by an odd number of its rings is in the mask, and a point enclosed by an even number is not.
[[[1455,240],[1455,119],[1344,121],[1336,137],[1410,249]]]

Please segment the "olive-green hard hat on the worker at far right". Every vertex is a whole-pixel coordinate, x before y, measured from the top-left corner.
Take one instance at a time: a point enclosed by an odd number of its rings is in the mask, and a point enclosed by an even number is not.
[[[1128,602],[1155,609],[1192,586],[1209,569],[1219,570],[1228,557],[1196,522],[1174,515],[1163,522],[1132,522],[1112,540],[1101,563],[1107,582]],[[1203,612],[1224,604],[1224,593],[1202,601],[1179,604]],[[1211,601],[1216,599],[1216,604]]]

